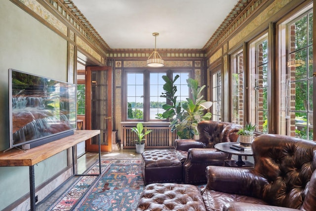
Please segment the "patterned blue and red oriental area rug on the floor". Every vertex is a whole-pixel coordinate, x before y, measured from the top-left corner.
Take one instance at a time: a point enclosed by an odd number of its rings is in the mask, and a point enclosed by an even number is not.
[[[98,166],[87,172],[98,173]],[[80,176],[46,211],[134,211],[144,189],[141,160],[102,159],[101,167],[94,184],[95,176]]]

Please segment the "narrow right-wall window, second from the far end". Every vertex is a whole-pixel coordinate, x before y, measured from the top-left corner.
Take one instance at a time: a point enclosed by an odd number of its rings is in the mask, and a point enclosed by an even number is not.
[[[243,52],[232,56],[232,123],[243,125],[244,70]]]

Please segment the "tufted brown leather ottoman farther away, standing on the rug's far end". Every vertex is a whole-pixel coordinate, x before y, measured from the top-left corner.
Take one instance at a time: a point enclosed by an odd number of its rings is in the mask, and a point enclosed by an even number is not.
[[[182,164],[169,150],[145,151],[142,161],[145,184],[182,181]]]

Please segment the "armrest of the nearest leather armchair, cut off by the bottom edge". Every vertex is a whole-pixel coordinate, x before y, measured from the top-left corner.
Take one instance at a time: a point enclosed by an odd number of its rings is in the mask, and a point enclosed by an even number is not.
[[[223,211],[299,211],[291,208],[259,205],[244,202],[229,202],[224,205]]]

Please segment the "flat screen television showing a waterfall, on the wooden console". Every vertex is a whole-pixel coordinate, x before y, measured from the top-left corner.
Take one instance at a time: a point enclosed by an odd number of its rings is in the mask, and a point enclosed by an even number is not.
[[[9,69],[10,148],[30,149],[74,134],[76,84]]]

